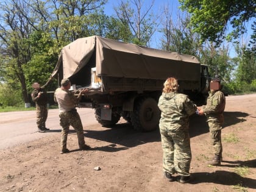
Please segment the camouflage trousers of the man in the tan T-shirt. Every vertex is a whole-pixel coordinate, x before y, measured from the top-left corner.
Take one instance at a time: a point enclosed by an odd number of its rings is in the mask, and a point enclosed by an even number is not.
[[[79,148],[84,148],[85,138],[82,122],[79,114],[76,110],[72,112],[62,112],[60,113],[60,126],[62,126],[62,138],[61,138],[61,148],[66,149],[66,141],[68,140],[69,126],[74,127],[76,130]]]

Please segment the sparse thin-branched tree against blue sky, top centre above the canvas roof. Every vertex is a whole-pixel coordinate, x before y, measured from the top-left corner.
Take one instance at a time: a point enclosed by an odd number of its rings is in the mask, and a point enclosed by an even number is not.
[[[158,16],[152,13],[154,0],[148,4],[148,7],[143,7],[142,0],[132,0],[129,2],[122,0],[118,7],[114,8],[123,26],[129,26],[130,30],[127,31],[128,34],[126,35],[127,40],[129,40],[129,43],[149,46],[152,35],[158,26]]]

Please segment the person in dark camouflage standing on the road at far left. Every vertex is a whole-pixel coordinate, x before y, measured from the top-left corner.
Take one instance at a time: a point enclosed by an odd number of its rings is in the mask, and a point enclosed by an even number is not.
[[[38,132],[45,132],[46,130],[49,130],[45,126],[45,122],[48,117],[47,94],[37,82],[35,82],[32,87],[34,88],[34,91],[32,91],[31,96],[32,100],[35,102],[35,107],[37,108]]]

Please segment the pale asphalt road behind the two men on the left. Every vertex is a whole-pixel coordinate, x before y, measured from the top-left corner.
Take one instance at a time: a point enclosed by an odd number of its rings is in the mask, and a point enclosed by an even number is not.
[[[77,108],[77,112],[82,119],[83,126],[98,124],[94,118],[93,109]],[[11,148],[21,143],[47,137],[51,134],[60,134],[59,109],[51,109],[48,112],[46,127],[50,129],[49,132],[37,132],[35,116],[35,110],[0,113],[0,149]]]

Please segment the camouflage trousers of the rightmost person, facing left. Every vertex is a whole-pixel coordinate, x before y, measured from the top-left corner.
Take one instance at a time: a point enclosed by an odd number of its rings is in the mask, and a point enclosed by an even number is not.
[[[218,122],[208,121],[210,130],[210,139],[215,155],[222,157],[221,129],[222,126]]]

